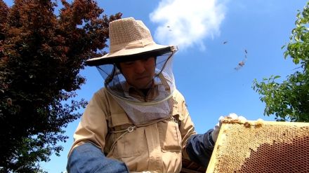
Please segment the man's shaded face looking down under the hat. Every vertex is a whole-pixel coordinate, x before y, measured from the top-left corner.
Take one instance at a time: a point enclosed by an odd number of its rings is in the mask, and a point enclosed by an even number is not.
[[[155,76],[155,57],[133,62],[120,62],[121,72],[126,82],[138,89],[147,89]]]

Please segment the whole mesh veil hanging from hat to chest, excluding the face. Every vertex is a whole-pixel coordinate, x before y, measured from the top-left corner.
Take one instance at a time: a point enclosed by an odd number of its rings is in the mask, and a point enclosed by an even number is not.
[[[176,50],[155,57],[155,76],[152,78],[150,95],[132,95],[126,78],[118,64],[97,66],[105,78],[105,88],[126,111],[134,125],[143,125],[152,120],[169,118],[172,113],[172,95],[175,81],[172,72],[173,54]],[[147,58],[147,57],[145,57]],[[151,94],[152,93],[152,94]]]

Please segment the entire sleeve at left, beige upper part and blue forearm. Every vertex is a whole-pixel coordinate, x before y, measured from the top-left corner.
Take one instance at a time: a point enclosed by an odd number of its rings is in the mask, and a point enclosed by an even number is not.
[[[103,152],[109,112],[108,99],[101,89],[86,106],[74,132],[74,143],[67,161],[68,172],[128,172],[123,162],[106,158]]]

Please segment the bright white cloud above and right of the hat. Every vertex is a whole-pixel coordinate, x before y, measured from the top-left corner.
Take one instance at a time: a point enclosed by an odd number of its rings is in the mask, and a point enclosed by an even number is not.
[[[162,0],[150,13],[150,20],[159,23],[155,40],[180,50],[191,46],[203,50],[203,39],[220,34],[224,17],[225,3],[217,0]]]

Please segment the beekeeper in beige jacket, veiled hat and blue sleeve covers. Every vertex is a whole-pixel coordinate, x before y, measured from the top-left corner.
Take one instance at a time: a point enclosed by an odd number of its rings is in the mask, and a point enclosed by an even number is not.
[[[206,167],[219,126],[195,132],[173,78],[177,46],[155,43],[134,18],[110,22],[109,35],[110,53],[86,62],[105,87],[86,106],[67,172],[180,172],[182,158]]]

